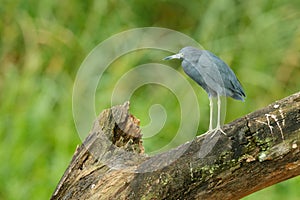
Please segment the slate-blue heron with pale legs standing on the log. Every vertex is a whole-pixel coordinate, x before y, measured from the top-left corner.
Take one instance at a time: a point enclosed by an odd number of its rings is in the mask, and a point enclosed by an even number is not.
[[[232,97],[244,101],[246,97],[243,87],[234,72],[219,57],[207,50],[195,47],[184,47],[178,54],[168,56],[164,60],[180,59],[184,72],[196,81],[207,93],[210,106],[209,131],[226,133],[221,129],[221,98]],[[218,121],[213,129],[213,100],[218,98]],[[214,136],[212,135],[212,137]]]

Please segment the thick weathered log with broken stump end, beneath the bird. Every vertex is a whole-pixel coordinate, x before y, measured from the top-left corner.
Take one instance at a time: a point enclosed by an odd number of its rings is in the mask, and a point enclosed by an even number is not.
[[[300,174],[300,93],[153,157],[128,109],[100,114],[52,199],[239,199]]]

